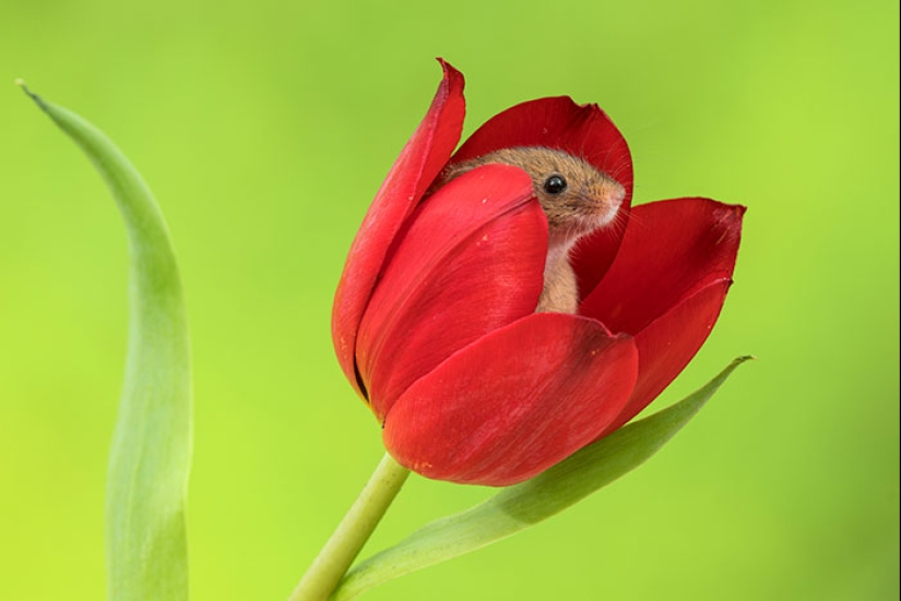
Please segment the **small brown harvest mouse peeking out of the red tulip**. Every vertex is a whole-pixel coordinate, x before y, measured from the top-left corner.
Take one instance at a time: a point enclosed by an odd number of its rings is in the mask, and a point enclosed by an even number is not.
[[[579,290],[569,252],[583,236],[614,221],[626,190],[591,164],[543,146],[502,148],[449,165],[442,182],[487,164],[512,165],[532,176],[535,196],[547,216],[544,288],[536,313],[576,313]]]

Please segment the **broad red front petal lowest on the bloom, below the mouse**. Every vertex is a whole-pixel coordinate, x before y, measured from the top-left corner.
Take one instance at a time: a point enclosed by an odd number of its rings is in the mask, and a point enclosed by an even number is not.
[[[565,459],[623,409],[637,376],[628,336],[540,313],[496,330],[414,383],[384,445],[426,477],[502,486]]]

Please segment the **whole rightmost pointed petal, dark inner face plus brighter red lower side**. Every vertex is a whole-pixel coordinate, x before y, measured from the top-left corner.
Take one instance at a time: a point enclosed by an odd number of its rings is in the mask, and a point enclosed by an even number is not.
[[[636,337],[639,378],[604,435],[648,406],[710,334],[732,283],[745,207],[709,199],[638,206],[607,274],[580,306]]]

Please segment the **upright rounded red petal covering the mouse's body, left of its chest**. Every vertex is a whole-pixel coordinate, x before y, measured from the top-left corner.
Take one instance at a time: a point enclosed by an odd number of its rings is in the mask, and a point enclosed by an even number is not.
[[[451,353],[534,313],[547,219],[533,195],[524,171],[488,165],[439,189],[414,214],[357,340],[379,419]]]

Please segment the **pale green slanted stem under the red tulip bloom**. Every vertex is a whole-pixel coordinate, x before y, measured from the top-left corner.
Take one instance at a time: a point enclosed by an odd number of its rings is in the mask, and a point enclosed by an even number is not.
[[[379,525],[410,470],[384,454],[337,529],[300,578],[288,601],[325,601]]]

